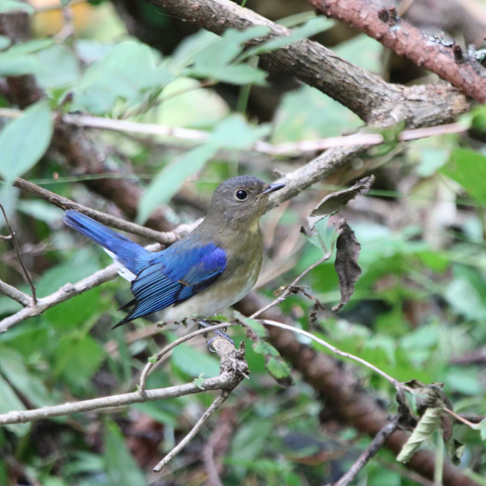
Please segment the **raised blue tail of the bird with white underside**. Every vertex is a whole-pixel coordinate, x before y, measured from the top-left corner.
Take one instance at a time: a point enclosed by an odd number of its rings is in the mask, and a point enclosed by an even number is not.
[[[64,217],[64,222],[112,253],[113,255],[111,256],[115,262],[134,274],[133,278],[139,274],[142,268],[148,265],[149,260],[154,258],[154,254],[146,250],[143,246],[125,238],[120,233],[107,228],[78,211],[68,209]],[[119,272],[120,275],[127,278],[123,275],[122,271],[123,269]],[[131,280],[131,278],[127,279]]]

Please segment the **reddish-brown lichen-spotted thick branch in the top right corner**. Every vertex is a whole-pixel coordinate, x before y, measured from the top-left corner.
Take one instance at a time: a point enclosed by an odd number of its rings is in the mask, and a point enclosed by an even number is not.
[[[359,29],[479,103],[486,103],[486,69],[458,44],[444,43],[399,18],[395,7],[380,8],[364,0],[307,1],[328,17]]]

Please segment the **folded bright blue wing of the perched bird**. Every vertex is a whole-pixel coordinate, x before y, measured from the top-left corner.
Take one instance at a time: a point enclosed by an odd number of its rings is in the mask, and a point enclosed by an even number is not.
[[[170,246],[140,271],[132,282],[135,299],[127,304],[135,304],[135,308],[115,327],[178,305],[221,276],[226,267],[225,250],[213,243],[192,244],[189,237]]]

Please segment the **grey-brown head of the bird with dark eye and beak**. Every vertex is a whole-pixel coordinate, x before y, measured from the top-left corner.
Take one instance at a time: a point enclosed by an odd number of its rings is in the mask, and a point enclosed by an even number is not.
[[[237,224],[258,224],[268,196],[285,184],[267,184],[257,177],[241,175],[221,183],[214,191],[208,217]]]

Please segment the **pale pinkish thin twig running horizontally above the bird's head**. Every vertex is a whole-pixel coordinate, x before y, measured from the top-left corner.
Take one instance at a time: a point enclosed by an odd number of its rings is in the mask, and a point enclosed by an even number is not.
[[[0,117],[18,118],[22,111],[13,108],[0,108]],[[139,123],[135,121],[117,120],[112,118],[93,117],[89,115],[62,116],[62,121],[80,127],[99,128],[130,133],[141,133],[145,135],[158,135],[172,137],[196,143],[203,143],[209,137],[209,132],[179,128],[156,123]],[[468,130],[464,123],[448,123],[432,127],[403,130],[397,134],[397,141],[408,141],[424,139],[434,135],[445,135],[449,133],[462,133]],[[268,142],[258,141],[253,150],[270,156],[297,156],[305,153],[322,152],[334,147],[360,147],[380,145],[385,139],[380,133],[356,133],[342,137],[329,137],[319,140],[302,140],[298,142],[286,142],[273,145]]]

